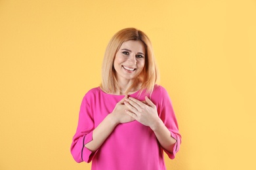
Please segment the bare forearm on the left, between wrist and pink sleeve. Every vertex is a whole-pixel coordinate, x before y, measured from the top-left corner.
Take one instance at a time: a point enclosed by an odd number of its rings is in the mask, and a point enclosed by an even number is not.
[[[112,118],[112,114],[108,114],[106,118],[93,130],[93,140],[85,144],[85,147],[95,152],[102,143],[112,133],[117,123]]]

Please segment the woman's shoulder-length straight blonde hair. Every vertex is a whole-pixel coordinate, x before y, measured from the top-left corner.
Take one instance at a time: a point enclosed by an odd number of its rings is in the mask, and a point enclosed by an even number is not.
[[[140,93],[142,90],[146,90],[146,93],[152,93],[154,85],[158,81],[159,73],[156,66],[156,61],[154,59],[154,53],[150,39],[145,33],[139,29],[125,28],[118,31],[106,47],[106,52],[102,62],[102,83],[100,88],[106,93],[115,93],[119,90],[116,79],[116,71],[114,69],[114,59],[117,51],[119,50],[121,44],[126,41],[141,41],[144,44],[146,50],[145,54],[145,65],[142,69],[140,75],[137,77],[135,82],[129,87],[126,94],[135,88],[138,83],[141,83]]]

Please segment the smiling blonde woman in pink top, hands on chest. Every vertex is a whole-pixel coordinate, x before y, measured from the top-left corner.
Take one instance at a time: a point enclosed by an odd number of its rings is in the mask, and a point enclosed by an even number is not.
[[[152,45],[142,31],[122,29],[110,40],[102,84],[85,94],[71,152],[92,169],[166,169],[181,135],[167,91],[156,85]]]

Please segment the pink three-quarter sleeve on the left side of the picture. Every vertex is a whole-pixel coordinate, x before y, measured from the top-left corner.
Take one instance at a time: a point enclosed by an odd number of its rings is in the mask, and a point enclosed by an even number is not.
[[[95,124],[91,107],[87,102],[86,97],[83,97],[79,111],[77,130],[70,148],[74,160],[78,163],[81,161],[89,163],[96,154],[96,152],[91,152],[91,150],[85,147],[85,144],[93,140],[94,128]]]

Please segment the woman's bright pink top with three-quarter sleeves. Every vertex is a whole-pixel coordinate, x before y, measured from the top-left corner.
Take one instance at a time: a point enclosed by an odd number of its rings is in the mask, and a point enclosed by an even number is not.
[[[146,94],[139,92],[129,95],[140,101],[145,100]],[[96,150],[91,152],[84,145],[93,139],[93,129],[114,110],[116,103],[124,95],[104,93],[100,88],[89,90],[83,97],[79,112],[79,122],[74,135],[71,152],[77,162],[93,160],[92,168],[107,170],[146,170],[166,169],[163,160],[163,148],[158,143],[154,132],[148,126],[137,122],[119,124]],[[158,115],[171,132],[171,137],[176,139],[173,152],[164,150],[169,158],[175,158],[181,144],[177,120],[173,112],[171,100],[165,88],[156,85],[150,97],[156,105]]]

